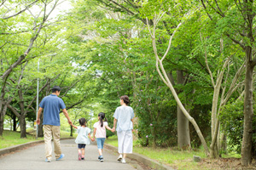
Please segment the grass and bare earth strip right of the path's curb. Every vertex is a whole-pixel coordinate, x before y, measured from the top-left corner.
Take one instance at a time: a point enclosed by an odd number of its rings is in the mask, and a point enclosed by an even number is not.
[[[111,136],[106,140],[107,144],[111,144],[118,147],[117,136]],[[203,148],[197,150],[178,150],[176,147],[172,148],[152,148],[142,147],[137,144],[137,141],[133,141],[133,152],[148,156],[151,159],[159,161],[160,163],[169,165],[175,169],[188,169],[188,170],[213,170],[213,169],[225,169],[228,164],[237,164],[237,158],[241,158],[241,155],[230,153],[229,155],[222,155],[223,158],[210,159],[208,158]],[[196,163],[193,161],[193,156],[201,156],[201,162]],[[226,163],[227,162],[227,163]],[[239,162],[239,160],[238,160]],[[227,164],[227,165],[226,165]],[[235,168],[236,167],[231,167]]]

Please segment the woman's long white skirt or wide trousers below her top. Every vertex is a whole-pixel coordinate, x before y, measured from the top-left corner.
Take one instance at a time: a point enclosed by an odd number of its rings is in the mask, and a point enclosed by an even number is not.
[[[117,132],[119,140],[119,154],[132,153],[132,132],[131,130]]]

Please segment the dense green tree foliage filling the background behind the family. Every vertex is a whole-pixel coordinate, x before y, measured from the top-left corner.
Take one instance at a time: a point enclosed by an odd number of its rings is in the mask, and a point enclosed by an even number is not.
[[[61,86],[61,98],[75,124],[80,116],[96,122],[98,112],[102,111],[112,127],[119,97],[128,95],[136,115],[134,134],[139,143],[176,146],[177,102],[156,69],[151,38],[155,30],[155,48],[157,54],[163,56],[169,38],[181,23],[163,60],[166,74],[207,144],[211,144],[211,123],[215,123],[217,117],[218,139],[224,134],[226,140],[222,142],[226,141],[228,149],[240,152],[244,69],[247,67],[241,43],[249,44],[253,50],[255,44],[243,33],[245,22],[236,1],[221,4],[207,1],[206,4],[187,0],[116,3],[73,0],[68,4],[72,6],[69,11],[59,11],[60,14],[53,14],[50,20],[45,18],[47,14],[41,15],[36,9],[44,11],[44,5],[49,5],[55,10],[59,1],[19,2],[19,8],[13,13],[34,3],[29,6],[31,10],[8,19],[4,18],[10,14],[8,8],[1,7],[0,102],[3,109],[0,122],[3,117],[13,119],[14,123],[35,119],[39,80],[39,100],[49,94],[50,87]],[[17,4],[5,2],[9,7]],[[46,12],[49,14],[49,9]],[[154,23],[156,18],[158,25]],[[12,67],[19,59],[20,63]],[[9,68],[12,69],[5,77]],[[92,111],[94,116],[90,119]],[[67,123],[63,125],[63,129],[69,130]],[[110,135],[113,133],[108,132]],[[189,138],[192,147],[201,145],[191,124]]]

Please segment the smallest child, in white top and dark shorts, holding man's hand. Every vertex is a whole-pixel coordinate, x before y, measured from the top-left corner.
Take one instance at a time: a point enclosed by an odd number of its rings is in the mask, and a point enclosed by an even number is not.
[[[94,139],[90,137],[90,128],[86,126],[86,120],[84,118],[79,119],[79,124],[80,124],[80,127],[76,127],[73,124],[71,126],[78,129],[78,136],[75,140],[75,143],[78,144],[79,161],[81,161],[81,160],[84,160],[85,145],[90,144],[90,140],[88,139],[88,136],[92,141],[94,141]]]

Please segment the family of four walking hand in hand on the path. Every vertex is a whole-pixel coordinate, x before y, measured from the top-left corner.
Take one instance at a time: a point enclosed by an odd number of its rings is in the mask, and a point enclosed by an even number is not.
[[[61,152],[60,144],[60,110],[67,117],[68,123],[78,130],[78,136],[75,139],[75,143],[78,144],[79,161],[84,160],[84,153],[86,144],[90,144],[91,141],[95,141],[99,152],[98,160],[103,160],[103,146],[106,139],[106,129],[114,132],[117,131],[118,136],[118,161],[125,163],[126,154],[132,153],[132,129],[133,129],[133,117],[134,112],[129,104],[128,96],[124,95],[120,97],[120,105],[113,114],[113,128],[108,127],[107,118],[105,113],[100,112],[98,114],[98,122],[94,124],[93,134],[91,135],[90,128],[86,126],[86,120],[82,117],[79,119],[79,127],[73,125],[68,116],[66,105],[63,100],[58,96],[61,94],[61,88],[55,86],[51,88],[52,94],[42,99],[38,109],[37,123],[40,124],[40,116],[44,111],[44,147],[45,147],[45,161],[50,162],[52,160],[52,146],[51,139],[54,141],[55,160],[61,160],[65,155]]]

